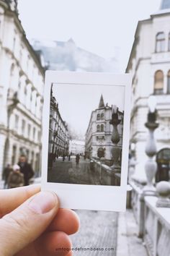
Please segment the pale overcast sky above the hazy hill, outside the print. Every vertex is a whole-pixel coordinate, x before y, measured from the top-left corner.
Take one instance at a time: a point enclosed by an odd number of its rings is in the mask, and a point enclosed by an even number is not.
[[[161,0],[19,0],[27,38],[63,40],[99,56],[117,56],[125,72],[138,20],[157,12]]]

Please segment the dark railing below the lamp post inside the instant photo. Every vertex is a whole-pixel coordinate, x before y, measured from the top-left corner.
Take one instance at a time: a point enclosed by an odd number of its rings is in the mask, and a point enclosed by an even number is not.
[[[101,185],[120,186],[120,173],[115,172],[112,168],[96,159],[91,159],[91,170],[95,171],[99,176]]]

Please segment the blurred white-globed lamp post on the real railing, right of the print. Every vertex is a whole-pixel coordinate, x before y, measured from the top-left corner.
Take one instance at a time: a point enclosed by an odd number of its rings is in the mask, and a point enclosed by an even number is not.
[[[156,188],[153,186],[153,178],[156,174],[157,163],[153,160],[154,155],[156,155],[156,141],[154,138],[154,131],[158,128],[158,123],[156,122],[156,98],[151,95],[148,98],[148,120],[146,122],[146,128],[148,128],[148,141],[146,142],[146,155],[148,155],[148,161],[146,161],[146,178],[147,184],[143,188],[143,191],[155,192]]]

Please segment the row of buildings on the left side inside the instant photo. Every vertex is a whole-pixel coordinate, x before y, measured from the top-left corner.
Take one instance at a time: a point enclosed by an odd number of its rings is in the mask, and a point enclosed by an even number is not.
[[[53,89],[50,95],[50,124],[49,124],[49,145],[48,153],[55,154],[56,157],[68,155],[69,134],[66,121],[63,121],[58,103],[53,96]]]

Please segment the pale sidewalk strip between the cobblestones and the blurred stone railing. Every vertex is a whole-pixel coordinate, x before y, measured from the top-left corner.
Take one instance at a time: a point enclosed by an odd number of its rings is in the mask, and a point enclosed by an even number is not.
[[[133,211],[119,213],[117,229],[117,256],[148,256],[142,239],[137,236],[137,224]]]

